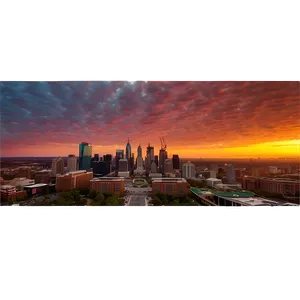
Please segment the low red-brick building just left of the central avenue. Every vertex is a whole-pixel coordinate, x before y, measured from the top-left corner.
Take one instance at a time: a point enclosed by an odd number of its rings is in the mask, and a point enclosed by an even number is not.
[[[93,178],[90,181],[90,191],[98,193],[124,193],[124,178],[122,177],[101,177]]]

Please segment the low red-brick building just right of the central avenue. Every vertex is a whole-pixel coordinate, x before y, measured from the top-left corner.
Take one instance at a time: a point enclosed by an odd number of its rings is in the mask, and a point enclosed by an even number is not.
[[[184,178],[153,178],[152,194],[184,196],[188,193],[188,183]]]

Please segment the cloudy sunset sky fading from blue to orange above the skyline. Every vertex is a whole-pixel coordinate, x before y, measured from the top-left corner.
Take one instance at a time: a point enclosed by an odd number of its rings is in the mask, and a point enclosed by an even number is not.
[[[100,155],[164,137],[182,158],[300,157],[297,81],[0,82],[0,156]]]

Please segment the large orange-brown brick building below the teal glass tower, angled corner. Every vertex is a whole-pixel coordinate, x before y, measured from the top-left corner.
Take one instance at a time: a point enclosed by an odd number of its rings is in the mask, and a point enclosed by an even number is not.
[[[70,191],[72,189],[88,189],[93,172],[79,170],[56,176],[56,191]]]

